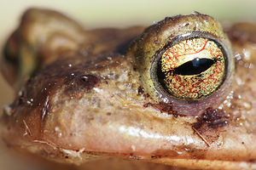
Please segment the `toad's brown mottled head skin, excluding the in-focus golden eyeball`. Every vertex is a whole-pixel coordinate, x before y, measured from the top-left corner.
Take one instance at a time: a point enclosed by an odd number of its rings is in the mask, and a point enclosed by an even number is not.
[[[256,168],[256,25],[227,28],[230,41],[217,20],[197,13],[143,29],[86,31],[55,11],[26,11],[4,51],[3,75],[17,92],[2,118],[4,141],[73,164],[114,156]],[[160,95],[150,68],[167,42],[192,31],[226,45],[230,73],[207,100],[180,104]]]

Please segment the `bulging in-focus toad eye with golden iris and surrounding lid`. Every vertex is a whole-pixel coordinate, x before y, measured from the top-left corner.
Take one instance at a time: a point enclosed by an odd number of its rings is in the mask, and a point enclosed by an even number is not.
[[[155,104],[185,116],[218,107],[230,94],[235,62],[218,20],[206,14],[167,17],[148,27],[127,53]]]

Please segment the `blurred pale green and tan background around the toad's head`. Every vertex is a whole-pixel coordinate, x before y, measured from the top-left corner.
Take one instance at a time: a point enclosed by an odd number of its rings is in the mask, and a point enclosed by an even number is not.
[[[210,14],[218,20],[229,23],[234,20],[256,20],[256,1],[253,0],[8,0],[0,2],[1,49],[10,32],[18,25],[20,14],[30,7],[57,9],[79,20],[89,29],[102,26],[148,26],[166,16],[190,14],[193,11]],[[14,98],[12,89],[2,76],[0,76],[0,93],[2,113],[3,106]],[[18,161],[17,157],[12,160],[13,158],[14,155],[9,153],[0,140],[0,169],[28,169],[26,161]],[[30,166],[29,169],[38,168]]]

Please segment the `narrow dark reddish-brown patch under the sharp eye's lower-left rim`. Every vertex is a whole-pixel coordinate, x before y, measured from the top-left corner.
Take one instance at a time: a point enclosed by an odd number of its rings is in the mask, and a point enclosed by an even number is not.
[[[177,111],[172,110],[172,103],[165,103],[165,102],[160,102],[159,104],[152,104],[152,103],[147,103],[143,105],[144,107],[154,107],[155,109],[158,109],[161,112],[165,112],[168,115],[176,115],[177,116]]]

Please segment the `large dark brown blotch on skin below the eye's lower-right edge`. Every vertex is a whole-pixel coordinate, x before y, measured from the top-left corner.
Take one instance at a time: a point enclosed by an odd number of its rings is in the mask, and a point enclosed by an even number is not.
[[[227,124],[228,117],[224,115],[224,111],[208,108],[197,117],[197,122],[192,124],[192,128],[209,146],[218,139],[219,132],[223,131]]]

